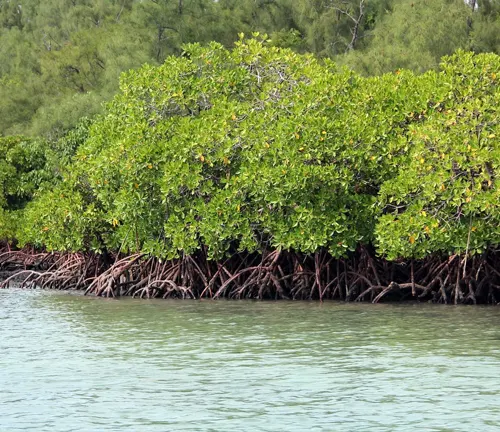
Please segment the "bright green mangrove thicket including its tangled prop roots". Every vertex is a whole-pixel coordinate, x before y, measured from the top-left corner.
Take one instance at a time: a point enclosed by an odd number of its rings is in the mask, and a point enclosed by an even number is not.
[[[500,57],[364,78],[265,39],[132,70],[55,144],[4,138],[5,239],[77,253],[61,274],[98,294],[497,301]]]

